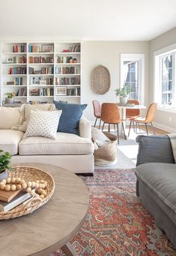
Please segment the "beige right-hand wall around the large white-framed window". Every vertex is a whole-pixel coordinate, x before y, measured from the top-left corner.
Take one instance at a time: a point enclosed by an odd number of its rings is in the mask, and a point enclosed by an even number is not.
[[[154,51],[160,50],[163,47],[167,47],[170,44],[176,43],[176,27],[174,29],[169,30],[163,35],[154,38],[149,42],[149,50],[150,50],[150,88],[149,88],[149,102],[153,101],[153,93],[154,93]],[[176,133],[176,112],[170,113],[166,111],[157,111],[156,124],[158,126],[169,130],[171,132]]]

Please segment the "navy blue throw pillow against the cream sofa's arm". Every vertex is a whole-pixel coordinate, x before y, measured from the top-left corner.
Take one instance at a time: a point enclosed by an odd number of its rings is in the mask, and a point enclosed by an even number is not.
[[[79,119],[82,117],[82,112],[87,107],[87,104],[70,104],[56,102],[55,100],[53,103],[55,108],[62,110],[58,123],[58,132],[79,135]]]

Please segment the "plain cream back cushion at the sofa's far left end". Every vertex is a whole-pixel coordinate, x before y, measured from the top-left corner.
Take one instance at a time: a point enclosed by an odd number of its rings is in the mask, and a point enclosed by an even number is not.
[[[0,129],[11,129],[12,126],[19,123],[19,119],[19,108],[0,107]]]

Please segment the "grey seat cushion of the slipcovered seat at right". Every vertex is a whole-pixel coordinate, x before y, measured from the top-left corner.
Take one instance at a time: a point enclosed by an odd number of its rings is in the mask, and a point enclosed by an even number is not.
[[[136,175],[176,213],[175,164],[144,163],[136,167]]]

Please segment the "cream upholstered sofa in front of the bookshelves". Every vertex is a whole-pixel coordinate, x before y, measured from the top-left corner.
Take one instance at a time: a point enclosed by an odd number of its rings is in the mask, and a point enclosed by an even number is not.
[[[11,128],[19,122],[19,108],[0,107],[0,149],[12,154],[12,163],[49,163],[75,173],[94,172],[91,123],[81,117],[79,135],[57,133],[56,139],[28,137]]]

